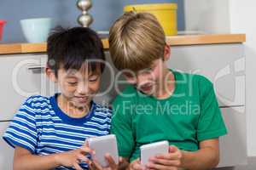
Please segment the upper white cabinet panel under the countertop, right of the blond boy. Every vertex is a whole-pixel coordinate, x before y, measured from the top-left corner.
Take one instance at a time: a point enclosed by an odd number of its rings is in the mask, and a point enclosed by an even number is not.
[[[242,44],[171,47],[170,68],[208,77],[219,105],[245,105],[245,57]]]

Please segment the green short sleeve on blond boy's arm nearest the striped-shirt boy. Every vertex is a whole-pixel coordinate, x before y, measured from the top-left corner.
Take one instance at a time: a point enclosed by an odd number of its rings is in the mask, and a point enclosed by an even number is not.
[[[116,135],[119,149],[119,156],[130,158],[134,150],[134,135],[131,126],[131,110],[125,109],[128,101],[116,98],[113,102],[113,117],[111,133]]]

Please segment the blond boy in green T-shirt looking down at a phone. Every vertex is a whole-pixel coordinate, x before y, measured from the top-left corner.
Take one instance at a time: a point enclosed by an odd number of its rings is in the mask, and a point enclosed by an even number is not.
[[[219,161],[218,137],[227,133],[212,82],[166,66],[170,47],[152,14],[130,12],[113,24],[110,54],[128,85],[113,101],[112,133],[131,169],[143,169],[139,147],[168,140],[169,153],[148,169],[209,169]]]

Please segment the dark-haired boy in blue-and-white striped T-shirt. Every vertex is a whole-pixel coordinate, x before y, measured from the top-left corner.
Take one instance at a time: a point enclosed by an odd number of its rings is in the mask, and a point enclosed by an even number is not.
[[[58,27],[47,54],[46,75],[61,94],[26,99],[3,139],[15,148],[14,169],[88,169],[94,151],[84,141],[108,134],[112,113],[93,101],[104,69],[102,41],[90,28]]]

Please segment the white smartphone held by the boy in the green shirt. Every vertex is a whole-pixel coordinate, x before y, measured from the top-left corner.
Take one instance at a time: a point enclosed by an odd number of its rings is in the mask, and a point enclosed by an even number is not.
[[[143,144],[141,147],[141,163],[145,166],[150,157],[158,154],[167,154],[169,151],[169,142],[167,140],[155,142],[152,144]]]

